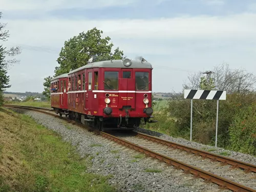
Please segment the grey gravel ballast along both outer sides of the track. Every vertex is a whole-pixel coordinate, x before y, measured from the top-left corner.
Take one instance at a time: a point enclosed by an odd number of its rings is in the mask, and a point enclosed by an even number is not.
[[[104,176],[112,175],[109,182],[116,186],[117,191],[215,191],[218,189],[216,184],[204,183],[202,179],[195,179],[191,174],[184,174],[182,170],[175,169],[164,162],[144,157],[141,153],[64,120],[33,111],[22,109],[15,109],[15,111],[31,116],[37,123],[56,131],[63,140],[75,145],[81,157],[87,157],[92,162],[87,172]],[[138,129],[137,131],[200,149],[212,148],[150,130]],[[219,149],[218,153],[222,152],[221,150],[223,149]],[[256,162],[255,157],[227,152],[231,154],[230,157],[241,161],[254,162],[254,164]]]

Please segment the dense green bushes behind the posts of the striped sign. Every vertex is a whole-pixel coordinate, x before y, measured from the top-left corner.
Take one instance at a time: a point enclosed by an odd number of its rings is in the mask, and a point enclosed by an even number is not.
[[[218,146],[256,155],[256,94],[229,94],[219,101]],[[193,100],[193,140],[215,144],[217,101]],[[168,101],[175,118],[175,135],[190,136],[190,100],[179,97]],[[243,123],[244,124],[243,124]],[[243,130],[243,128],[245,129]]]

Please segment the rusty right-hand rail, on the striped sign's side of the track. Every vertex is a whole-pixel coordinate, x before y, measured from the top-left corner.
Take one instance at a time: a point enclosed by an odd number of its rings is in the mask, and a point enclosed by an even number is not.
[[[200,155],[203,158],[209,158],[212,161],[220,161],[220,162],[222,162],[223,165],[226,165],[226,164],[232,165],[232,168],[238,168],[239,167],[239,168],[244,169],[244,171],[246,173],[249,173],[249,172],[256,173],[256,165],[246,163],[246,162],[243,162],[243,161],[239,161],[239,160],[236,160],[236,159],[231,159],[229,157],[224,157],[224,156],[221,156],[221,155],[209,153],[209,152],[206,152],[206,151],[203,151],[203,150],[198,150],[197,148],[182,145],[182,144],[179,144],[179,143],[174,143],[172,141],[167,141],[167,140],[164,140],[164,139],[160,139],[158,137],[154,137],[154,136],[151,136],[151,135],[146,135],[146,134],[139,133],[139,132],[136,132],[136,133],[137,133],[137,136],[142,137],[144,139],[151,140],[151,141],[154,141],[154,142],[157,142],[157,143],[161,143],[161,144],[173,147],[173,148],[178,148],[180,150],[183,150],[183,151],[186,151],[186,152],[189,152],[189,153]]]

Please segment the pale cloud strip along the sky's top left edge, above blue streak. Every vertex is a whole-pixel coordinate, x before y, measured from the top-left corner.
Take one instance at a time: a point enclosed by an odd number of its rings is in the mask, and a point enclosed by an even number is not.
[[[27,10],[27,11],[50,11],[54,9],[71,9],[71,8],[103,8],[110,6],[125,6],[135,2],[135,0],[0,0],[1,10]]]

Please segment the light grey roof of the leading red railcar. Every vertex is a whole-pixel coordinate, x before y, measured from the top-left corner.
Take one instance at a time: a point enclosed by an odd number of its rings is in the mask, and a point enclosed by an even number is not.
[[[98,62],[91,62],[88,63],[85,66],[82,66],[80,68],[77,68],[75,70],[70,71],[68,74],[75,73],[77,71],[83,70],[83,69],[88,69],[88,68],[146,68],[146,69],[152,69],[152,65],[149,62],[141,62],[140,60],[131,60],[132,65],[129,67],[125,67],[123,65],[122,60],[106,60],[106,61],[98,61]]]

